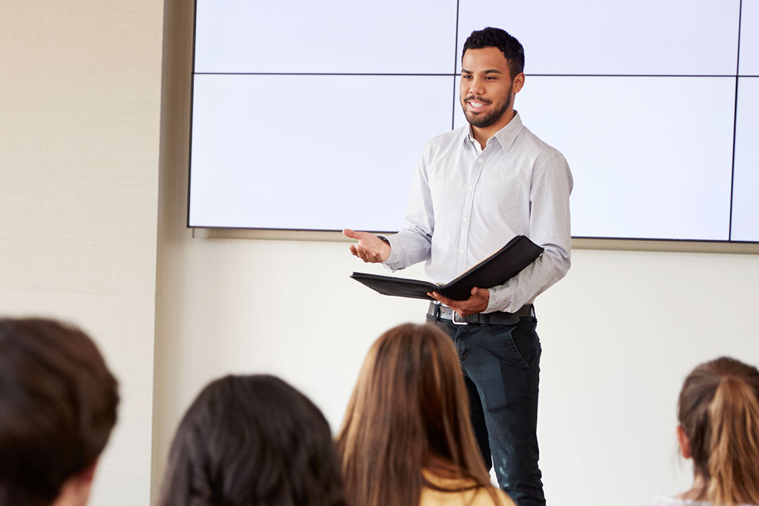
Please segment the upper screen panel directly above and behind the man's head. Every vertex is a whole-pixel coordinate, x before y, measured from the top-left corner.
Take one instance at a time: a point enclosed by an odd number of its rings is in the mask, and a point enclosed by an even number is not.
[[[472,30],[493,26],[519,39],[528,74],[734,75],[739,5],[739,0],[467,0],[458,14],[457,61]]]

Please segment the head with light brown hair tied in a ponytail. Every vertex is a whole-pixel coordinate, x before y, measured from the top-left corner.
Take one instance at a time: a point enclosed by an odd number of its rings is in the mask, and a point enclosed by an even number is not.
[[[710,504],[759,504],[756,367],[729,357],[702,363],[682,385],[678,419]]]

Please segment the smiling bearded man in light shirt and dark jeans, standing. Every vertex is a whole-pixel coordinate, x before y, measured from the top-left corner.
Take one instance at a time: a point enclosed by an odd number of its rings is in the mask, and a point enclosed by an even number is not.
[[[431,292],[427,320],[455,342],[471,420],[488,468],[519,506],[546,504],[538,467],[540,340],[533,301],[569,269],[569,193],[564,156],[521,122],[524,50],[503,30],[472,32],[461,57],[459,98],[468,125],[424,146],[398,234],[345,229],[351,253],[390,270],[426,262],[446,283],[526,235],[544,248],[518,275],[472,288],[467,300]]]

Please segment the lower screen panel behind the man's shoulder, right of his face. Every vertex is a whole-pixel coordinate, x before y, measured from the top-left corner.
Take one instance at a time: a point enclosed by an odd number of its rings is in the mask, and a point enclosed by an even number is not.
[[[727,240],[734,92],[731,77],[535,76],[515,108],[572,168],[573,236]]]

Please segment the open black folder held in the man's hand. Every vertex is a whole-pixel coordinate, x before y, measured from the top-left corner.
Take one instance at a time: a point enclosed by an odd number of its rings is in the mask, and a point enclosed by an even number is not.
[[[367,287],[378,291],[380,294],[395,297],[432,300],[427,292],[436,291],[452,300],[466,300],[474,287],[490,288],[509,281],[510,278],[534,262],[540,253],[543,253],[543,248],[524,235],[518,235],[509,240],[496,253],[446,284],[434,284],[418,279],[395,278],[394,276],[380,276],[365,272],[354,272],[351,274],[351,278],[366,284]]]

